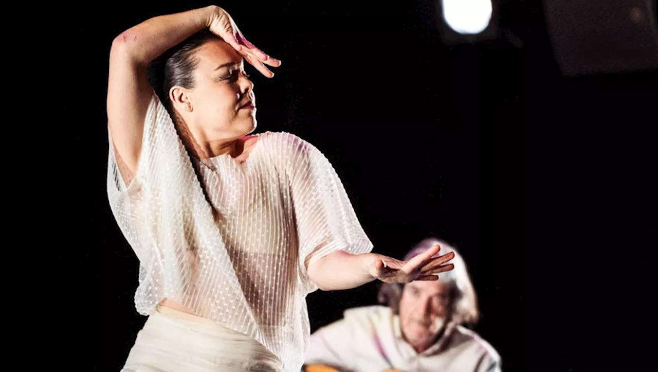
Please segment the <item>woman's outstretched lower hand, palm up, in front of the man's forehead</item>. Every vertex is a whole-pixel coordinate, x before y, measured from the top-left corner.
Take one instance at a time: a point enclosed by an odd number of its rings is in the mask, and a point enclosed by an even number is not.
[[[455,257],[454,252],[432,257],[440,250],[441,247],[435,244],[432,248],[412,257],[408,261],[400,261],[385,255],[375,255],[373,262],[368,265],[368,272],[372,277],[387,283],[438,280],[438,273],[455,268],[452,263],[445,264]]]

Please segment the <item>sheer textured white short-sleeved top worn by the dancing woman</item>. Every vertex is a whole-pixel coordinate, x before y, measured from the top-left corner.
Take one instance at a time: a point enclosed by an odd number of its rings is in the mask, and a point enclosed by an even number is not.
[[[305,262],[372,250],[326,157],[293,134],[268,132],[245,163],[219,155],[199,164],[155,93],[127,186],[109,140],[107,192],[139,259],[139,313],[169,298],[298,371],[310,332],[305,296],[317,289]]]

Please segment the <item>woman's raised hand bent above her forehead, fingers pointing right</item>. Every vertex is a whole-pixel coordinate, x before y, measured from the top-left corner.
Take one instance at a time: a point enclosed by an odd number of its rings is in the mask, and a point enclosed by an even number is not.
[[[274,73],[272,73],[272,71],[270,71],[265,65],[278,67],[281,65],[281,61],[266,55],[261,49],[258,49],[255,45],[249,42],[242,32],[240,32],[240,29],[233,18],[231,18],[224,9],[217,7],[216,5],[211,5],[210,7],[211,16],[209,18],[208,26],[211,32],[229,43],[229,45],[236,49],[236,51],[247,60],[247,62],[257,68],[261,74],[268,78],[274,76]]]

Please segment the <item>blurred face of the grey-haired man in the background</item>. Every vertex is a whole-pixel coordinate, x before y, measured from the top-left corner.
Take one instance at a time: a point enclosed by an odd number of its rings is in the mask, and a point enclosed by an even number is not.
[[[447,315],[448,291],[448,284],[438,280],[405,285],[399,313],[401,331],[409,344],[424,346],[440,331]]]

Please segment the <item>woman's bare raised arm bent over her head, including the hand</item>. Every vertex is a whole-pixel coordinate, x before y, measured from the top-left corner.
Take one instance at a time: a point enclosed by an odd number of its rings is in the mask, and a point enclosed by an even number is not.
[[[156,16],[114,38],[110,50],[107,117],[126,184],[137,171],[144,119],[153,96],[147,80],[147,66],[171,47],[205,28],[232,45],[267,77],[273,74],[263,63],[280,65],[280,61],[268,57],[245,40],[230,15],[216,5]]]

